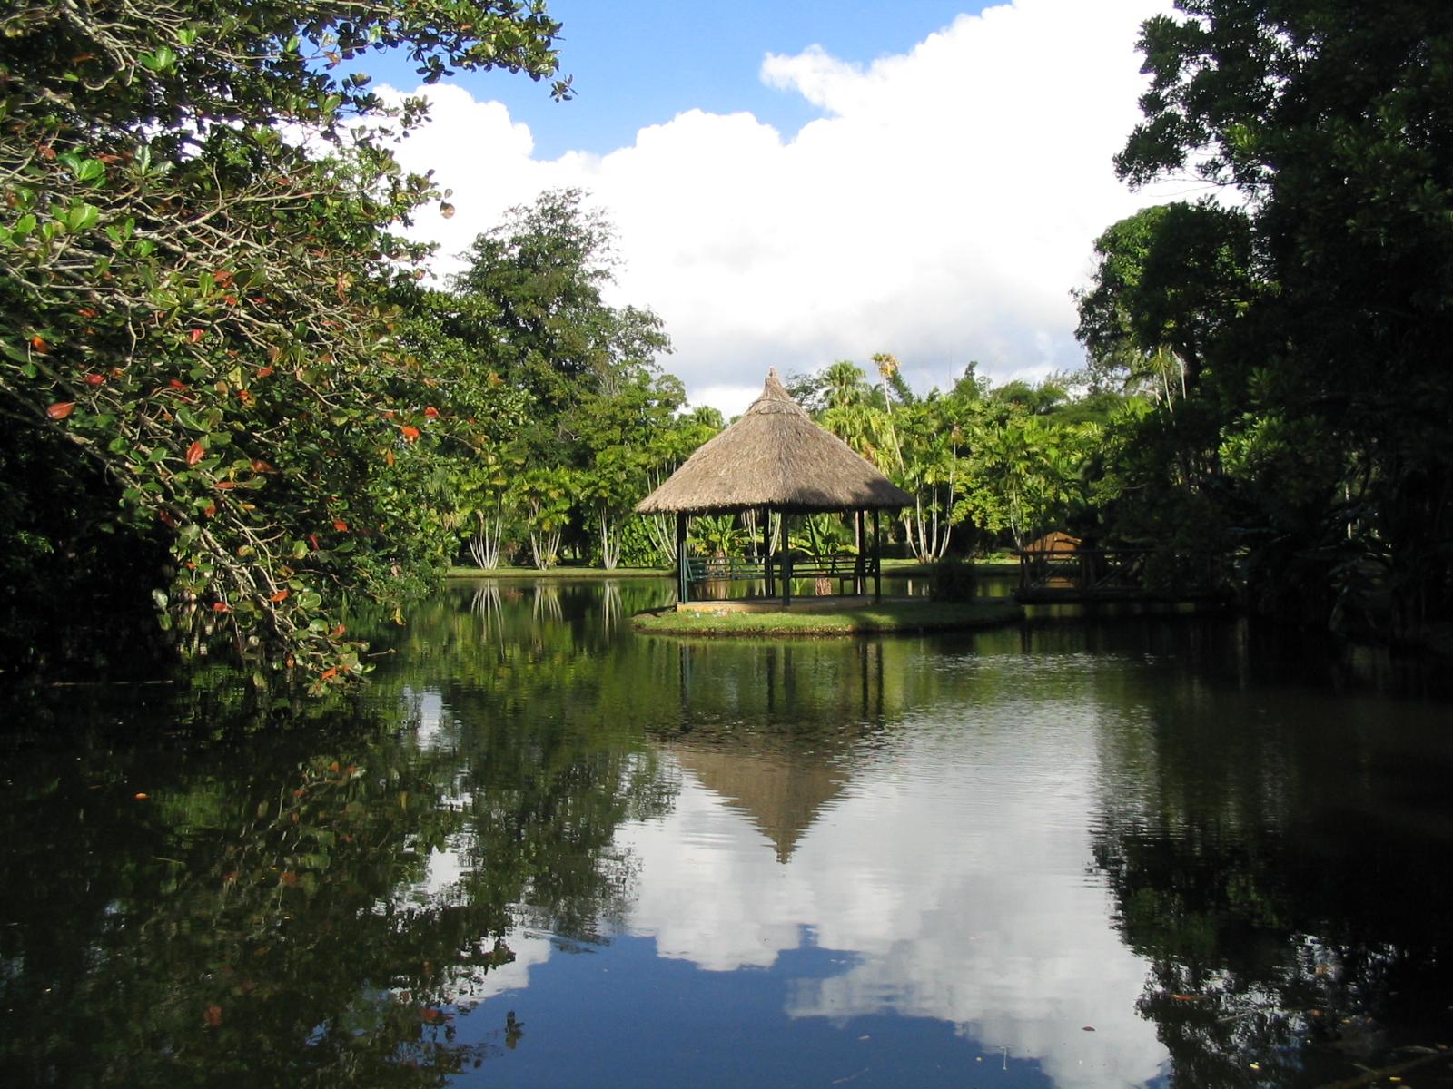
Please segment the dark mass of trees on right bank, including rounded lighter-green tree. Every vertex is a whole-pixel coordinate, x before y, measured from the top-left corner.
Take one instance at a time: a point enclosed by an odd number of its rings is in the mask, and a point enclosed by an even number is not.
[[[1453,614],[1453,7],[1181,0],[1116,166],[1199,176],[1097,242],[1080,335],[1152,408],[1109,511],[1235,552],[1273,616]]]

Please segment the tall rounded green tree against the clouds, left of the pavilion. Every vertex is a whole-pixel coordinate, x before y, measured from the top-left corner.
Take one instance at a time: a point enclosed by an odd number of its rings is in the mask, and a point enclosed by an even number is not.
[[[517,391],[522,411],[506,428],[513,456],[578,489],[543,537],[542,492],[514,489],[509,514],[536,563],[552,563],[562,547],[619,563],[626,515],[645,494],[648,433],[684,401],[680,383],[660,373],[657,356],[670,351],[661,319],[602,298],[616,267],[612,235],[583,192],[542,193],[475,238],[469,267],[440,303],[446,354],[464,360],[450,364],[458,385],[485,401],[497,388]],[[495,446],[503,440],[490,434]],[[495,537],[504,514],[495,508]]]

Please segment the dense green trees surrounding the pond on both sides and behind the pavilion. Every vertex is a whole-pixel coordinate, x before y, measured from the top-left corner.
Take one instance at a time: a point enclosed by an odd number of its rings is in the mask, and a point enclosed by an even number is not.
[[[915,393],[881,354],[795,392],[915,497],[908,555],[1062,529],[1152,549],[1165,587],[1417,637],[1453,613],[1453,12],[1180,9],[1144,28],[1117,168],[1213,196],[1097,240],[1087,370]],[[427,286],[400,228],[452,208],[388,150],[423,105],[357,71],[404,49],[429,81],[552,78],[542,4],[20,4],[0,29],[7,672],[125,643],[341,682],[350,603],[450,563],[670,560],[631,508],[725,421],[661,370],[661,321],[604,301],[609,222],[543,193]],[[700,518],[693,547],[760,537]]]

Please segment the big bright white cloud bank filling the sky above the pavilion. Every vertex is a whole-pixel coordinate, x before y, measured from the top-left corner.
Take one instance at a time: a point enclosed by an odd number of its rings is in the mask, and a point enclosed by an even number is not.
[[[1094,237],[1151,199],[1110,157],[1138,119],[1139,23],[1165,7],[1019,0],[869,67],[769,55],[761,78],[825,115],[786,136],[689,110],[607,155],[541,161],[503,106],[433,87],[401,157],[455,190],[452,221],[420,224],[445,254],[541,189],[588,190],[619,231],[619,299],[665,319],[667,366],[726,411],[769,366],[875,351],[920,386],[971,359],[1043,375],[1081,362],[1068,292]]]

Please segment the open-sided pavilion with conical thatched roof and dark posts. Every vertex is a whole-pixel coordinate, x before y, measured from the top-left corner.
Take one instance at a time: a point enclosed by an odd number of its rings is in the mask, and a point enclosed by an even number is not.
[[[676,515],[677,600],[690,601],[690,584],[713,578],[761,579],[767,597],[782,584],[782,604],[792,604],[792,579],[851,578],[853,592],[882,597],[879,513],[912,504],[912,497],[883,476],[847,443],[818,427],[783,388],[777,372],[747,412],[693,453],[660,488],[636,505],[641,514]],[[686,555],[686,527],[693,514],[761,511],[761,563],[738,559],[708,562],[693,571]],[[770,514],[783,515],[780,552],[772,556]],[[857,550],[853,556],[818,558],[793,569],[786,515],[851,513]],[[872,513],[872,553],[866,515]]]

